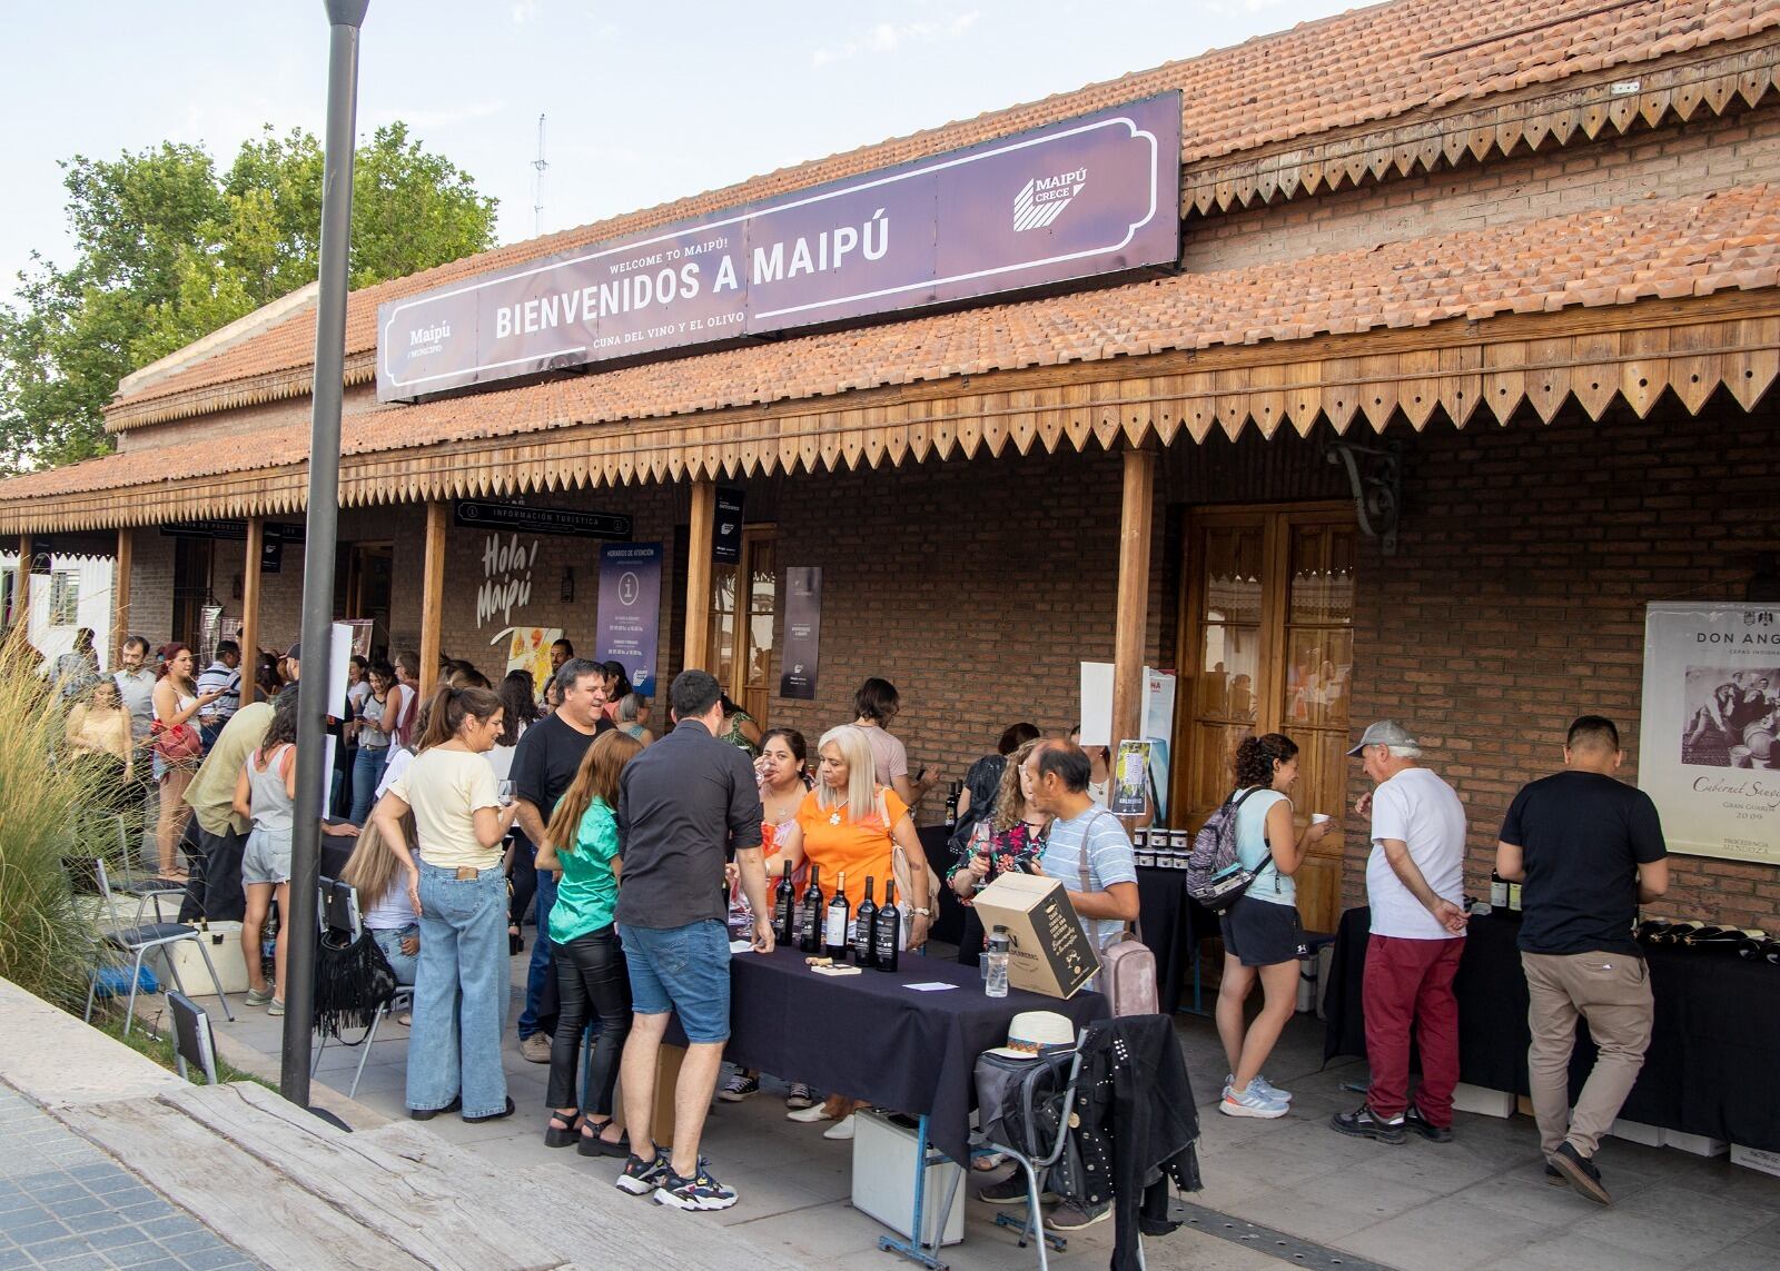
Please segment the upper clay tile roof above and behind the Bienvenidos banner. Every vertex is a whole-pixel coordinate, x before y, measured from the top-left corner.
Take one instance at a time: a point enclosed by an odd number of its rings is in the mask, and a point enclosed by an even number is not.
[[[376,347],[377,304],[454,278],[904,164],[1155,93],[1182,91],[1182,162],[1194,162],[1736,39],[1773,25],[1780,25],[1780,5],[1771,0],[1552,0],[1543,5],[1525,0],[1399,0],[1356,9],[1234,48],[368,287],[349,303],[347,352]],[[315,315],[308,312],[141,392],[117,397],[112,411],[128,427],[144,411],[155,417],[157,402],[308,367],[313,351]]]

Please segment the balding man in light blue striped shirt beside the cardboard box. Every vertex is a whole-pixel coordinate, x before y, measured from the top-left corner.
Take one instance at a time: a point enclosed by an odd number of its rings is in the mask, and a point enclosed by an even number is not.
[[[1040,870],[1063,883],[1095,949],[1105,949],[1137,920],[1137,860],[1125,826],[1089,797],[1093,762],[1070,742],[1045,742],[1027,755],[1027,801],[1056,817],[1045,837]],[[1088,883],[1082,883],[1082,860]]]

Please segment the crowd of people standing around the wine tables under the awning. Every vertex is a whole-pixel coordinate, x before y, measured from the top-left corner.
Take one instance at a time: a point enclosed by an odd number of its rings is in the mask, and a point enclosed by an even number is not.
[[[169,644],[150,662],[130,637],[119,669],[91,660],[91,632],[52,668],[68,712],[68,746],[103,764],[119,806],[146,783],[160,792],[155,846],[160,874],[182,879],[183,821],[196,821],[203,878],[190,903],[217,917],[239,906],[251,1006],[283,1009],[283,931],[272,977],[262,933],[285,911],[295,821],[301,648],[276,668],[283,687],[242,705],[240,650],[217,646],[201,671],[192,650]],[[952,865],[933,878],[913,808],[936,774],[910,773],[890,730],[901,700],[865,680],[849,723],[812,751],[792,728],[762,732],[703,671],[668,692],[657,737],[650,701],[621,666],[552,650],[536,691],[527,671],[498,689],[465,662],[440,666],[440,687],[418,700],[418,657],[354,659],[347,700],[331,728],[336,751],[331,835],[356,837],[345,881],[358,888],[365,927],[397,979],[413,984],[406,1104],[429,1120],[511,1116],[502,1068],[509,963],[536,938],[516,1020],[520,1054],[550,1066],[545,1143],[623,1161],[616,1186],[680,1209],[724,1209],[735,1189],[700,1155],[710,1100],[737,1102],[762,1075],[735,1068],[719,1089],[730,1036],[730,940],[767,952],[776,935],[773,883],[796,894],[813,879],[826,895],[844,878],[849,911],[883,881],[899,906],[906,947],[920,951],[947,886],[967,910],[961,961],[975,961],[983,926],[972,899],[997,876],[1063,881],[1089,940],[1105,947],[1136,920],[1130,840],[1105,808],[1105,753],[1047,741],[1038,726],[1004,730],[995,753],[970,765],[958,794]],[[345,753],[345,762],[338,755]],[[1470,913],[1465,904],[1465,808],[1422,762],[1417,739],[1374,723],[1347,751],[1372,789],[1355,803],[1369,821],[1363,1009],[1371,1084],[1333,1129],[1381,1143],[1406,1134],[1452,1137],[1458,1004],[1452,981]],[[1533,1102],[1547,1175],[1609,1203],[1593,1164],[1638,1075],[1650,1040],[1652,999],[1630,927],[1639,903],[1668,885],[1663,833],[1648,796],[1613,778],[1623,755],[1614,725],[1577,719],[1565,771],[1525,787],[1501,830],[1497,872],[1524,881],[1520,951],[1531,990]],[[1228,1072],[1219,1111],[1278,1118],[1292,1095],[1264,1075],[1296,1008],[1305,936],[1294,876],[1326,817],[1299,828],[1292,790],[1299,748],[1282,733],[1246,737],[1234,755],[1228,808],[1235,854],[1251,883],[1219,917],[1225,967],[1216,1020]],[[1250,1016],[1248,999],[1262,1004]],[[648,1136],[657,1052],[669,1015],[687,1038],[673,1104],[675,1141]],[[1600,1057],[1574,1109],[1568,1061],[1577,1018]],[[406,1020],[404,1020],[406,1022]],[[591,1072],[578,1081],[593,1029]],[[1412,1036],[1420,1081],[1412,1089]],[[787,1116],[853,1134],[863,1105],[847,1091],[819,1097],[799,1073]],[[625,1107],[614,1105],[623,1077]],[[586,1091],[586,1100],[582,1100]],[[1024,1184],[1004,1184],[1018,1200]],[[1063,1228],[1104,1212],[1063,1216]]]

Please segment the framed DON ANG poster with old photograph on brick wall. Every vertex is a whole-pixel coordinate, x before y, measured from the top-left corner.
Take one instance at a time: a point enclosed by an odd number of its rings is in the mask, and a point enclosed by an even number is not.
[[[1780,605],[1645,614],[1638,785],[1670,851],[1780,865]]]

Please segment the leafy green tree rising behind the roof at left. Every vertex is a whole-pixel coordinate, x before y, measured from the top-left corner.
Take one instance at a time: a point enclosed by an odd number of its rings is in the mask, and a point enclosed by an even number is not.
[[[228,171],[199,146],[164,142],[116,160],[62,164],[75,263],[32,256],[0,306],[0,472],[110,449],[117,381],[315,279],[322,150],[265,128]],[[352,287],[486,251],[495,199],[470,174],[377,128],[352,174]]]

